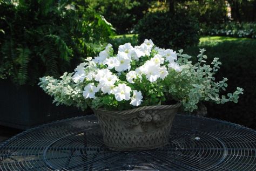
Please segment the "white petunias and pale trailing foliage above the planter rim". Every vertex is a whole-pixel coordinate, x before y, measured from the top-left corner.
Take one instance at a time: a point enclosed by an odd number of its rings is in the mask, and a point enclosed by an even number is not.
[[[95,58],[88,57],[74,73],[65,72],[60,79],[40,78],[39,86],[54,97],[53,102],[76,106],[85,110],[106,108],[125,110],[140,106],[169,105],[180,102],[184,110],[197,109],[199,101],[237,102],[242,88],[221,95],[227,87],[227,78],[215,82],[214,74],[221,64],[214,58],[207,65],[204,49],[198,61],[171,49],[161,49],[152,40],[145,39],[139,46],[120,45],[114,54],[112,45]]]

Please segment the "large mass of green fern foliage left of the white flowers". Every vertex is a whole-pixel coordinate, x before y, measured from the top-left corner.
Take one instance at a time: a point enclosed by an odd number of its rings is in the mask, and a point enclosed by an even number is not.
[[[59,77],[114,35],[102,16],[76,2],[0,1],[0,16],[0,78],[16,85]]]

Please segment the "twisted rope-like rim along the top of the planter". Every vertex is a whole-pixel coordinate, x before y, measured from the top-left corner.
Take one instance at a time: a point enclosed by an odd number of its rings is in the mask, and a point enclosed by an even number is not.
[[[104,112],[104,113],[111,113],[114,115],[127,115],[127,114],[136,113],[136,112],[144,111],[144,110],[169,110],[172,108],[178,108],[178,107],[180,107],[180,105],[181,105],[180,102],[177,102],[177,104],[174,104],[174,105],[142,106],[142,107],[133,108],[130,110],[123,110],[123,111],[109,111],[104,108],[98,108],[97,110],[96,109],[92,109],[92,110],[100,111],[100,112]]]

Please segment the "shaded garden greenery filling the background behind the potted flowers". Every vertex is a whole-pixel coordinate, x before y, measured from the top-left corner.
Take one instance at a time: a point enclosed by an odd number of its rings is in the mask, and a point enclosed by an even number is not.
[[[45,75],[145,38],[193,57],[205,48],[223,63],[227,91],[244,88],[238,104],[206,103],[207,117],[256,128],[256,0],[0,0],[0,78],[36,86]],[[4,87],[3,87],[4,88]]]

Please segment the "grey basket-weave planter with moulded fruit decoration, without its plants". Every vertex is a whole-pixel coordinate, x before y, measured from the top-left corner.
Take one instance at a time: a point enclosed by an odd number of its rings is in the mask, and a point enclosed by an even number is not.
[[[114,151],[165,146],[180,104],[144,106],[125,111],[94,110],[105,145]]]

